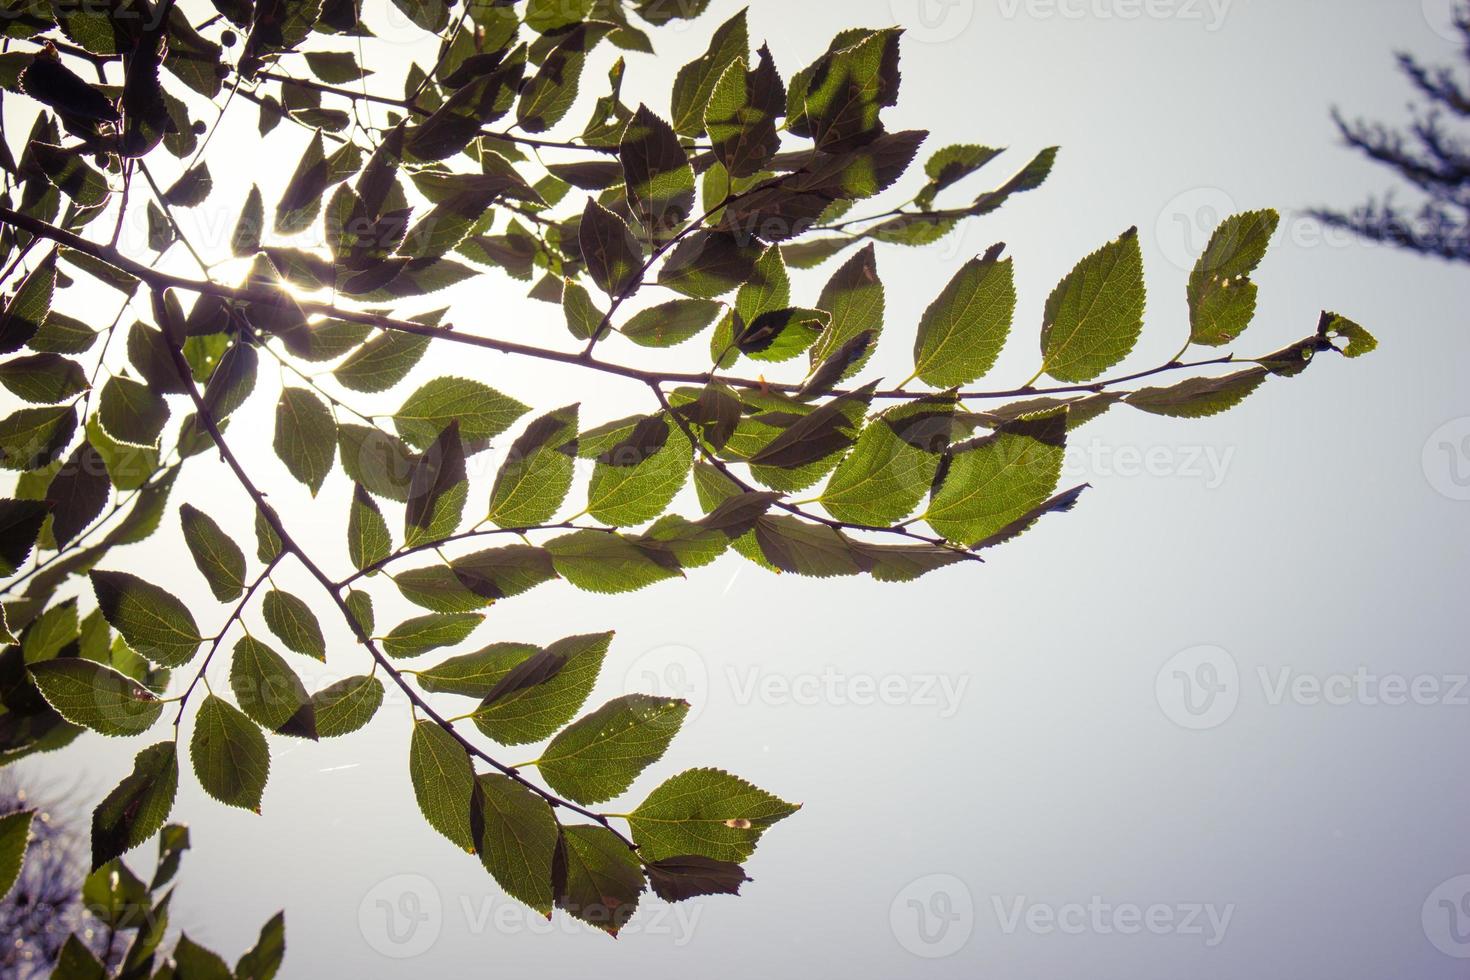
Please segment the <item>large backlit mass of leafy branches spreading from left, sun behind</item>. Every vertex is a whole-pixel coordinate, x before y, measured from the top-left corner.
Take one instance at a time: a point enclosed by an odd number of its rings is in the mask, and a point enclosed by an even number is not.
[[[885,122],[903,31],[847,31],[791,71],[753,50],[744,12],[710,25],[667,104],[628,104],[613,53],[651,51],[706,6],[4,4],[0,383],[24,406],[0,419],[16,473],[0,761],[87,729],[166,729],[97,804],[96,874],[132,887],[122,855],[168,835],[181,771],[259,811],[273,742],[356,732],[392,688],[412,705],[404,792],[531,908],[616,934],[647,890],[736,893],[798,807],[714,767],[622,801],[689,705],[585,710],[612,633],[482,645],[487,610],[553,580],[632,592],[728,551],[892,583],[973,564],[1076,504],[1083,488],[1058,485],[1076,428],[1114,408],[1217,414],[1317,354],[1373,348],[1323,313],[1274,353],[1222,351],[1251,326],[1277,226],[1251,212],[1191,275],[1176,357],[1119,367],[1145,309],[1127,229],[1050,295],[1035,376],[982,386],[1016,313],[1005,247],[964,262],[917,325],[885,322],[878,247],[1014,206],[1055,148],[961,191],[1000,151],[947,145],[914,166],[928,134]],[[428,51],[401,78],[372,71],[392,60],[390,15]],[[606,81],[588,71],[604,63]],[[263,160],[290,147],[273,203],[210,175],[241,113]],[[232,216],[222,248],[181,220],[206,203]],[[132,215],[151,254],[121,239]],[[226,259],[231,281],[212,275]],[[479,294],[451,289],[506,278],[567,332],[510,339]],[[441,291],[450,306],[423,313]],[[895,332],[908,378],[864,381]],[[456,373],[410,379],[431,348]],[[576,392],[532,407],[494,386],[535,361],[617,379],[645,408],[588,419]],[[247,466],[266,439],[279,467]],[[225,485],[185,491],[194,460],[218,460]],[[307,547],[322,527],[335,548]],[[160,560],[185,548],[196,569]],[[278,586],[287,570],[310,588]],[[216,607],[179,598],[203,586]],[[379,621],[398,604],[417,610]],[[343,679],[310,691],[310,661]],[[503,761],[525,745],[532,763]]]

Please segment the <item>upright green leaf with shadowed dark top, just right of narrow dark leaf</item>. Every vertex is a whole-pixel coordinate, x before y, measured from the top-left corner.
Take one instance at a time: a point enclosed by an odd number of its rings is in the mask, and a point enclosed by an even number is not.
[[[534,527],[556,516],[572,488],[576,419],[576,406],[550,411],[510,445],[490,492],[495,526]]]

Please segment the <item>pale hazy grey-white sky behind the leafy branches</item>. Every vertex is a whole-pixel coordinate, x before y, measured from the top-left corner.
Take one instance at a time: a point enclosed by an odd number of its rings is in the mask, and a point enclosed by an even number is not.
[[[726,557],[634,597],[550,585],[494,608],[476,641],[616,629],[594,704],[650,685],[697,702],[629,807],[691,765],[726,767],[806,804],[766,835],[739,899],[650,899],[617,942],[560,918],[547,926],[422,820],[407,708],[391,701],[347,739],[272,739],[260,817],[215,804],[185,774],[175,818],[191,823],[196,849],[175,909],[191,936],[232,961],[284,905],[287,977],[1464,976],[1449,954],[1470,955],[1470,933],[1449,926],[1470,893],[1452,880],[1470,874],[1470,689],[1457,680],[1470,671],[1470,269],[1354,244],[1299,215],[1386,187],[1338,145],[1327,112],[1398,118],[1410,94],[1392,51],[1451,59],[1436,31],[1446,3],[923,1],[754,0],[750,12],[753,41],[770,43],[786,76],[842,28],[907,25],[903,97],[888,119],[931,129],[931,148],[1007,145],[991,167],[1008,173],[1063,147],[1042,191],[939,245],[879,253],[888,347],[876,373],[907,375],[923,307],[966,259],[1004,241],[1022,300],[991,381],[1025,382],[1047,292],[1130,225],[1150,311],[1127,364],[1160,363],[1185,335],[1188,266],[1214,220],[1264,206],[1286,217],[1257,276],[1257,326],[1235,350],[1305,336],[1323,307],[1374,331],[1382,348],[1326,357],[1205,422],[1114,410],[1075,442],[1073,482],[1094,485],[1078,510],[986,566],[882,586],[778,579]],[[714,0],[685,29],[656,32],[660,59],[631,59],[625,97],[666,112],[673,69],[736,9]],[[1123,16],[1133,10],[1144,13]],[[604,66],[588,71],[597,81],[585,97],[601,93]],[[388,87],[391,65],[382,69]],[[263,144],[253,109],[231,113],[209,157],[216,187],[259,181],[275,200],[304,135],[282,128]],[[973,187],[985,179],[989,170]],[[197,220],[228,234],[243,190],[216,197]],[[798,278],[797,298],[814,298],[832,267]],[[488,276],[451,297],[450,319],[562,342],[559,310],[520,291]],[[688,357],[701,357],[692,347]],[[606,353],[639,357],[629,345]],[[579,398],[591,423],[645,408],[645,394],[616,379],[459,350],[372,404],[391,411],[445,370],[542,408]],[[232,444],[256,436],[248,455],[273,473],[273,500],[345,567],[345,479],[338,470],[312,504],[275,467],[273,401],[256,394]],[[190,470],[175,500],[229,517],[251,541],[228,473],[204,460]],[[197,599],[209,629],[216,613],[175,527],[171,519],[168,544],[128,561]],[[304,576],[279,580],[310,595]],[[410,613],[378,592],[379,623]],[[345,630],[332,629],[331,676],[363,670]],[[223,686],[220,661],[212,677]],[[309,688],[329,679],[293,663]],[[1180,673],[1207,677],[1201,664],[1226,691],[1197,717]],[[1363,683],[1367,695],[1394,674],[1421,692],[1433,685],[1420,699],[1435,702],[1292,695],[1299,677],[1335,689],[1333,677],[1360,669],[1377,677]],[[886,685],[901,702],[863,704],[853,680]],[[84,738],[29,771],[79,780],[90,805],[144,743]],[[406,893],[431,917],[395,943],[378,901],[409,908]],[[1069,908],[1089,904],[1108,909]],[[1144,909],[1135,934],[1117,929],[1130,921],[1126,908],[1114,918],[1119,907]],[[1470,930],[1466,908],[1460,930]],[[1067,930],[1047,929],[1048,912]],[[403,952],[417,955],[387,955]]]

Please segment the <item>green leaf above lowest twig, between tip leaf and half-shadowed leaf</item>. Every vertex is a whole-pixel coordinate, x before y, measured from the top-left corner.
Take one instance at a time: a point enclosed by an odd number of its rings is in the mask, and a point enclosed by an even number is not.
[[[537,761],[547,785],[581,804],[617,796],[657,763],[689,702],[632,693],[609,701],[551,739]]]

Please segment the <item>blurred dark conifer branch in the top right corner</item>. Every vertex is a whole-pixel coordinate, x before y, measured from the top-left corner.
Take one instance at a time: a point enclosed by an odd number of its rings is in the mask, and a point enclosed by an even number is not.
[[[1470,62],[1470,4],[1457,7],[1454,24]],[[1408,53],[1398,54],[1398,66],[1420,98],[1408,123],[1349,120],[1336,109],[1332,118],[1344,141],[1407,184],[1413,200],[1401,201],[1389,191],[1351,212],[1316,209],[1313,215],[1370,241],[1470,262],[1470,88],[1463,71],[1426,65]]]

